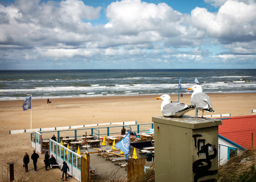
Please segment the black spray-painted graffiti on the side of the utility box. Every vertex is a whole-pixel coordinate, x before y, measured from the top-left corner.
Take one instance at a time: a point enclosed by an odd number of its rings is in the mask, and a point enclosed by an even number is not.
[[[205,139],[202,139],[202,135],[192,135],[195,141],[195,148],[197,148],[197,155],[205,155],[205,158],[198,159],[193,163],[192,169],[195,173],[194,181],[197,182],[199,178],[204,176],[209,176],[211,179],[203,180],[201,182],[216,182],[217,179],[212,178],[211,176],[218,173],[218,169],[210,170],[212,167],[211,160],[217,156],[217,149],[215,145],[206,143]]]

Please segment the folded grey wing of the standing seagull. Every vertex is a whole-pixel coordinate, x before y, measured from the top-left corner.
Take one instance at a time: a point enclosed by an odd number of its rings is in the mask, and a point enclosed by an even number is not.
[[[212,109],[212,102],[208,95],[203,92],[196,93],[190,100],[192,105],[200,109]]]

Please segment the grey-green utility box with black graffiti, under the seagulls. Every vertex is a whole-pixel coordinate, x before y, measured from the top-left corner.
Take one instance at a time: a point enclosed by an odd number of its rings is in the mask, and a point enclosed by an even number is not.
[[[218,126],[222,120],[153,117],[155,181],[217,181]]]

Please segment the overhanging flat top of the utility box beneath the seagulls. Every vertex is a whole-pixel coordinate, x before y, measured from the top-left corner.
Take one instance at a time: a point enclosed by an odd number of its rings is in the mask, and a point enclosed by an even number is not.
[[[195,116],[183,115],[180,118],[169,118],[165,116],[152,117],[152,121],[177,127],[198,129],[222,125],[222,120],[212,118],[195,118]]]

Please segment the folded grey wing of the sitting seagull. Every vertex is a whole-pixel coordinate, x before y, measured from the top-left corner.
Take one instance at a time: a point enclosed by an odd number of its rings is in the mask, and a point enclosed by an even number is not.
[[[194,109],[195,106],[188,106],[187,104],[184,104],[182,102],[172,102],[169,104],[166,104],[163,107],[163,110],[161,113],[164,116],[173,116],[173,117],[180,117],[183,114],[187,113],[188,111]]]

